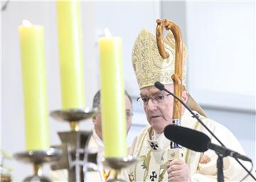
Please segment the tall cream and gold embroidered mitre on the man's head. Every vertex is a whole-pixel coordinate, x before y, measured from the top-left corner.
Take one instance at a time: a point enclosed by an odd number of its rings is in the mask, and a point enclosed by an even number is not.
[[[159,55],[156,45],[156,37],[149,30],[142,29],[134,42],[132,51],[132,65],[137,77],[139,89],[153,86],[156,81],[162,84],[173,84],[171,75],[174,74],[175,40],[169,31],[164,36],[164,46],[169,58],[163,59]],[[186,46],[183,44],[183,85],[186,86]]]

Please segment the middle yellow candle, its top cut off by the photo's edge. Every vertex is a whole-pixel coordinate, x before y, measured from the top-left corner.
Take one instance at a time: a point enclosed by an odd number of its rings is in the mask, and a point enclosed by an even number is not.
[[[80,4],[57,1],[58,45],[63,109],[85,107]]]

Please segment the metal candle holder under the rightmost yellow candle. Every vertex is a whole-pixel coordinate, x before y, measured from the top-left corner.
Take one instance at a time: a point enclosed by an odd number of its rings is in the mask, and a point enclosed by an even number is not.
[[[102,161],[102,164],[104,166],[108,166],[111,169],[114,170],[114,178],[110,178],[107,180],[107,182],[125,182],[124,179],[119,178],[119,173],[122,169],[125,169],[129,166],[132,166],[133,164],[136,164],[138,162],[137,157],[132,157],[132,155],[128,155],[127,157],[123,158],[106,158]]]

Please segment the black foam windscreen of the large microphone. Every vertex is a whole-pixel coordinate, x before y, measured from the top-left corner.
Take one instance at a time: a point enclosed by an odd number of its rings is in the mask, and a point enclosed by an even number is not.
[[[172,142],[196,152],[208,150],[207,144],[210,142],[210,138],[203,132],[177,125],[167,125],[164,128],[164,135]]]

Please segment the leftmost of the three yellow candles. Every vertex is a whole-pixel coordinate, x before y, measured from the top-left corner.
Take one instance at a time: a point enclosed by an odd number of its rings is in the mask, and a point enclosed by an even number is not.
[[[26,149],[49,147],[46,58],[43,27],[23,21],[18,27],[23,73]]]

